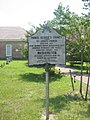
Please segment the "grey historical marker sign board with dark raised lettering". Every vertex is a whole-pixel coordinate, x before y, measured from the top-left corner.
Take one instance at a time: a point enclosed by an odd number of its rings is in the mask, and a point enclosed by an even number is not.
[[[55,30],[39,30],[28,42],[29,65],[65,64],[65,36]]]

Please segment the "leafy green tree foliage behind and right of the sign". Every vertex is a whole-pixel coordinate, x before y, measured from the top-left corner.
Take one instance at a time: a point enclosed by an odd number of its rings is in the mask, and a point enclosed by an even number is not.
[[[36,30],[44,25],[55,29],[59,34],[66,36],[66,60],[90,62],[90,16],[78,16],[69,10],[69,6],[63,7],[62,3],[54,11],[55,18],[44,22]]]

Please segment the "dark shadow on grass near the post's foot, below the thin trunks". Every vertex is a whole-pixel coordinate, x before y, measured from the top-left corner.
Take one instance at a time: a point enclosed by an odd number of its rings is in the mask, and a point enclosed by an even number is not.
[[[46,106],[46,100],[45,99],[39,99],[38,102],[43,101],[43,107]],[[79,102],[82,101],[82,98],[79,97],[78,95],[62,95],[62,96],[56,96],[55,98],[50,98],[49,99],[49,107],[52,109],[54,113],[59,113],[62,111],[66,106],[65,109],[70,110],[69,103],[70,102]],[[37,101],[36,101],[37,102]],[[50,111],[50,112],[52,112]]]

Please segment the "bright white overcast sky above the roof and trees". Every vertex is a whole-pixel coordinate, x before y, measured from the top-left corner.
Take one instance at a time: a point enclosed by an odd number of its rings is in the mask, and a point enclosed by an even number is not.
[[[70,6],[70,11],[83,12],[81,0],[0,0],[0,26],[20,26],[29,29],[52,20],[59,3]]]

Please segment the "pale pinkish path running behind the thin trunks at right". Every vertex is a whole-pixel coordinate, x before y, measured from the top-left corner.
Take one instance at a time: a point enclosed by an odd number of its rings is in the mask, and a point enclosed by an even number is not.
[[[66,75],[70,75],[70,70],[71,70],[72,76],[76,76],[75,79],[80,80],[81,75],[80,75],[80,73],[77,72],[77,70],[74,70],[74,69],[71,69],[71,68],[68,68],[65,66],[56,66],[56,69],[58,69],[58,70],[60,69],[60,71]],[[90,77],[89,77],[89,79],[90,79]],[[85,84],[87,84],[88,75],[83,74],[82,80]],[[89,82],[89,85],[90,85],[90,82]]]

